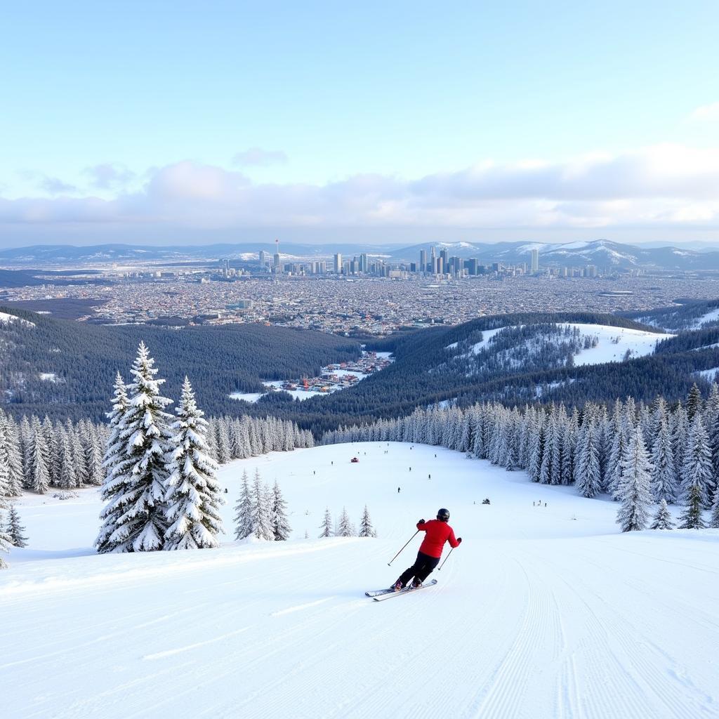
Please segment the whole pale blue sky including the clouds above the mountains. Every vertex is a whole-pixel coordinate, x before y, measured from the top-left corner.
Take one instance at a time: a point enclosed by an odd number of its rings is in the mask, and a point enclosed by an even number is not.
[[[27,0],[0,247],[719,244],[715,0]]]

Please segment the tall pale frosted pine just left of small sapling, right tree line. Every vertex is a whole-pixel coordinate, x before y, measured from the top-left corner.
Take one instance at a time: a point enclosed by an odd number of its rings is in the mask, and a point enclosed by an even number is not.
[[[641,426],[632,429],[627,457],[623,461],[622,484],[618,489],[621,506],[617,512],[617,523],[623,532],[646,528],[651,493],[651,464],[644,446]]]

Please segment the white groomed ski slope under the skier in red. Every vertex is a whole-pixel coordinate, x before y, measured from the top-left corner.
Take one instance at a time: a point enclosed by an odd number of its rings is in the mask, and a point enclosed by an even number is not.
[[[277,477],[298,539],[99,557],[96,490],[20,503],[30,545],[0,573],[4,718],[719,717],[718,531],[623,535],[610,501],[429,446],[233,462],[233,503],[243,467]],[[302,539],[326,505],[359,521],[365,502],[378,539]],[[439,585],[365,597],[443,505],[464,542]]]

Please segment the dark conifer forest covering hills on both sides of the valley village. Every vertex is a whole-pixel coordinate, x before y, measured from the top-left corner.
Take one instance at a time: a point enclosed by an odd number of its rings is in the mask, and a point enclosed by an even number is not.
[[[0,369],[2,406],[18,420],[35,414],[53,421],[104,421],[114,374],[127,365],[140,340],[162,367],[168,392],[178,396],[189,375],[209,416],[269,414],[296,422],[316,437],[337,426],[400,417],[445,400],[460,408],[482,401],[506,406],[554,401],[572,408],[630,395],[651,402],[658,394],[673,401],[686,396],[695,382],[706,394],[709,383],[699,373],[719,367],[719,347],[714,346],[719,328],[667,338],[656,328],[614,315],[514,313],[367,339],[367,349],[393,352],[393,365],[329,396],[300,402],[278,392],[252,404],[228,395],[262,392],[260,380],[317,375],[324,365],[358,357],[359,343],[274,326],[88,326],[12,313],[35,324],[32,329],[0,325],[7,357]],[[567,322],[654,332],[656,352],[624,362],[574,366],[574,353],[594,339],[591,332],[580,336],[567,330],[562,326]],[[495,331],[491,347],[471,351],[489,331]],[[52,372],[52,379],[40,379],[41,372]]]

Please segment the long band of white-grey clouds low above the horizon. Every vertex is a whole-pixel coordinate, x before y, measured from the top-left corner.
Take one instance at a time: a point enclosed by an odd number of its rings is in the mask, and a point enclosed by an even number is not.
[[[324,185],[254,183],[241,171],[191,160],[144,174],[97,165],[88,178],[109,196],[58,196],[58,180],[47,188],[52,196],[0,197],[0,229],[719,227],[719,150],[682,145],[567,162],[484,162],[416,180],[360,174]],[[131,180],[141,184],[129,191]]]

